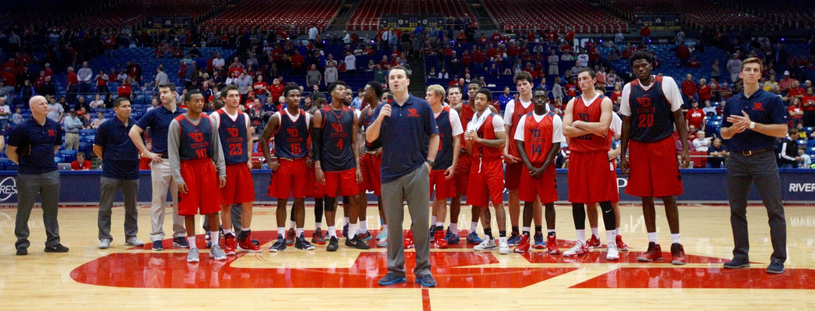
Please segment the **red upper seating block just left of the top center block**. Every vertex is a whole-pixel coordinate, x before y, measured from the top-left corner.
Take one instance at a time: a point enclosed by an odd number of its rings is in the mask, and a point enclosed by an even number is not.
[[[212,28],[256,27],[298,29],[315,24],[324,29],[337,15],[342,2],[327,0],[248,0],[207,20],[203,26]]]

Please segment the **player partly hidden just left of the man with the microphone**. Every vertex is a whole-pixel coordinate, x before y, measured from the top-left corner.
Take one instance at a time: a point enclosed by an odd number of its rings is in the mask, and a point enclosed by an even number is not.
[[[359,133],[360,138],[363,137],[365,129],[368,129],[368,126],[375,120],[373,118],[373,112],[377,109],[377,106],[379,106],[379,100],[384,93],[382,85],[377,81],[368,81],[368,84],[365,85],[365,89],[363,90],[363,108],[358,118],[359,122],[357,123],[357,133]],[[359,204],[359,230],[356,234],[357,239],[364,242],[371,239],[371,234],[368,232],[367,217],[365,217],[366,213],[364,212],[368,208],[368,194],[366,194],[366,191],[373,191],[373,194],[377,195],[377,205],[379,206],[379,210],[382,210],[382,180],[380,172],[382,164],[382,142],[379,138],[373,142],[366,141],[364,151],[362,152],[364,153],[359,158],[359,170],[362,172],[362,183],[359,184],[359,195],[356,199],[356,203]],[[384,226],[387,225],[383,225],[383,227]],[[355,233],[349,232],[349,234]],[[379,234],[377,234],[377,246],[385,247],[387,243],[387,230],[380,230]]]

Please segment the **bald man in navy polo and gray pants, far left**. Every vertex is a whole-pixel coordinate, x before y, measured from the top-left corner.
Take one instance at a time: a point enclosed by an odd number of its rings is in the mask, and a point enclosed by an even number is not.
[[[46,252],[68,252],[68,247],[59,243],[59,171],[54,155],[62,145],[62,132],[59,124],[48,119],[48,102],[45,97],[34,96],[29,99],[31,118],[15,126],[8,137],[6,154],[16,164],[17,170],[17,216],[14,235],[17,242],[14,247],[17,255],[28,255],[29,217],[31,208],[37,201],[37,194],[42,201],[42,222],[46,226]]]

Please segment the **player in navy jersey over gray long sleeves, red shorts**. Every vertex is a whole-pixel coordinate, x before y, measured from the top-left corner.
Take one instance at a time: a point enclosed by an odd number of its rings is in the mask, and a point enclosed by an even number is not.
[[[202,115],[204,95],[191,90],[184,96],[188,111],[170,121],[167,133],[168,156],[173,177],[178,183],[178,215],[184,217],[190,252],[187,262],[198,262],[196,214],[209,218],[209,235],[218,237],[218,211],[221,210],[218,188],[227,183],[221,139],[209,117]],[[218,243],[209,248],[209,257],[227,259]]]

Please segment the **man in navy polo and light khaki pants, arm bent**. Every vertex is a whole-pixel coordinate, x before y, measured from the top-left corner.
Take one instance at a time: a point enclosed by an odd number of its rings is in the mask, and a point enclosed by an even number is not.
[[[167,157],[167,130],[170,129],[170,121],[176,116],[181,116],[187,112],[186,109],[178,107],[175,103],[175,96],[178,92],[175,85],[167,82],[158,85],[159,99],[161,106],[151,109],[136,122],[130,129],[130,139],[135,146],[152,160],[150,164],[152,179],[152,208],[150,216],[152,218],[152,231],[150,240],[152,249],[160,251],[164,249],[161,240],[164,239],[164,205],[167,202],[167,190],[173,196],[173,246],[189,247],[186,232],[184,230],[184,217],[178,216],[178,186],[173,179],[173,170],[170,167],[170,160]],[[150,138],[152,139],[152,151],[144,145],[142,133],[150,128]]]

